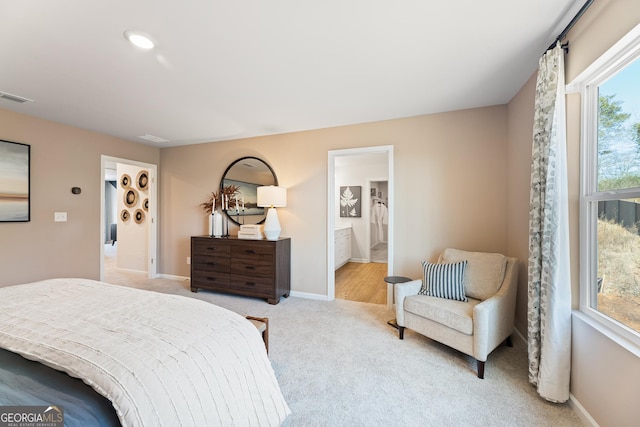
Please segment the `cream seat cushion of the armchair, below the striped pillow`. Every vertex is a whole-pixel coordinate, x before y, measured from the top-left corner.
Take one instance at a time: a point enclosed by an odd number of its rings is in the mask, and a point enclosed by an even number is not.
[[[447,300],[426,295],[405,297],[404,310],[440,323],[463,334],[473,335],[473,307],[479,300],[467,302]]]

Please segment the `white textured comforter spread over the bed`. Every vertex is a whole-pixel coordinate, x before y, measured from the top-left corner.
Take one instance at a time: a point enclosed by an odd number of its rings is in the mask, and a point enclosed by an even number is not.
[[[86,279],[0,288],[0,347],[81,378],[123,426],[270,426],[290,413],[257,330],[192,298]]]

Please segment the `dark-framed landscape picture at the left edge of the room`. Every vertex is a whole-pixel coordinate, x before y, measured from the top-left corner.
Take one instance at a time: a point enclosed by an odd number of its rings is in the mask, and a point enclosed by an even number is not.
[[[0,140],[0,222],[31,221],[31,146]]]

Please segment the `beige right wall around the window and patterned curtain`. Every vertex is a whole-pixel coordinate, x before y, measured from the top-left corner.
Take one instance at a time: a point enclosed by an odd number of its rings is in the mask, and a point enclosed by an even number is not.
[[[569,83],[640,22],[637,0],[601,0],[569,33],[565,57]],[[509,102],[508,111],[508,251],[528,254],[529,176],[535,78]],[[580,96],[567,96],[567,157],[570,202],[572,306],[579,307]],[[526,267],[525,267],[526,268]],[[526,335],[526,271],[520,271],[516,328]],[[571,394],[601,426],[637,425],[634,403],[640,395],[638,356],[613,342],[579,316],[573,316]],[[634,400],[635,399],[635,400]]]

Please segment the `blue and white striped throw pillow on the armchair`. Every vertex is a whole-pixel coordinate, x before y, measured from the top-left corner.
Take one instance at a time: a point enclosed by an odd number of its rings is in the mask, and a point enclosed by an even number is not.
[[[467,301],[464,294],[464,271],[467,261],[453,264],[432,264],[422,261],[424,278],[419,295]]]

